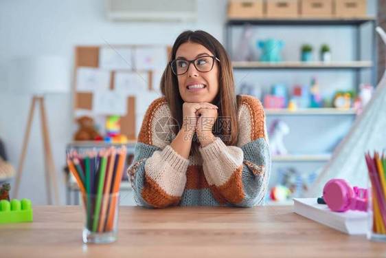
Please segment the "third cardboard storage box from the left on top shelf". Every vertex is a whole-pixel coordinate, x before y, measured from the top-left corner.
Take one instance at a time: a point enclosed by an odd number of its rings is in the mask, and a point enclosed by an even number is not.
[[[302,0],[300,16],[302,18],[330,18],[333,16],[332,0]]]

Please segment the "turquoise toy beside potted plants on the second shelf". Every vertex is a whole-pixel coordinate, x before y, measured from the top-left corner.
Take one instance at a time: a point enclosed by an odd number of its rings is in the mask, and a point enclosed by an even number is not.
[[[260,61],[262,62],[281,62],[281,51],[284,47],[284,42],[276,39],[267,39],[265,41],[258,41],[258,47],[261,48],[262,54]]]

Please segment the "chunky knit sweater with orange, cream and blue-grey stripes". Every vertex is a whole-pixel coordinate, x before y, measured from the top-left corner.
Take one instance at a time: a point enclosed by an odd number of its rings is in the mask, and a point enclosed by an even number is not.
[[[160,121],[172,117],[166,98],[154,100],[128,168],[137,204],[148,208],[263,204],[271,170],[264,110],[251,96],[240,95],[238,103],[237,146],[216,138],[185,159],[170,147],[175,133],[171,137],[159,133]]]

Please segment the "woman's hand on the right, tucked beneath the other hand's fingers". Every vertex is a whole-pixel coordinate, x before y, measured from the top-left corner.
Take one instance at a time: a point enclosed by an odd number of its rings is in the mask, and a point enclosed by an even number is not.
[[[201,145],[206,146],[214,140],[212,128],[217,120],[218,112],[217,109],[201,108],[197,110],[196,114],[200,116],[196,125],[197,137]]]

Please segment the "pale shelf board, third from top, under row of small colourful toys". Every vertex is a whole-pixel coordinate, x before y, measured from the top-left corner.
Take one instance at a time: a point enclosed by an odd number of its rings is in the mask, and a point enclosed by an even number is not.
[[[337,109],[333,107],[308,108],[308,109],[264,109],[267,116],[355,116],[355,109]]]

